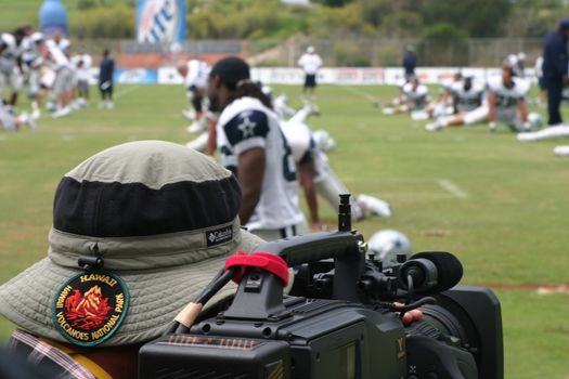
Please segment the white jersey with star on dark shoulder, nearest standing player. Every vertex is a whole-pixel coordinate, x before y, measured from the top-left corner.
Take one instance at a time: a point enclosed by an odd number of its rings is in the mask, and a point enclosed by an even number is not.
[[[277,230],[302,223],[296,166],[277,116],[259,100],[241,97],[223,109],[216,128],[221,164],[233,173],[242,153],[254,147],[266,153],[261,196],[246,226]]]

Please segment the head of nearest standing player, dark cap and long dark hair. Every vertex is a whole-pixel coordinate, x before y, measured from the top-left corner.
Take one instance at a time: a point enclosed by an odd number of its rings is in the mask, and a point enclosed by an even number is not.
[[[212,112],[221,112],[234,100],[244,96],[258,99],[264,106],[272,108],[269,97],[250,80],[249,65],[236,56],[224,57],[211,67],[207,96]]]

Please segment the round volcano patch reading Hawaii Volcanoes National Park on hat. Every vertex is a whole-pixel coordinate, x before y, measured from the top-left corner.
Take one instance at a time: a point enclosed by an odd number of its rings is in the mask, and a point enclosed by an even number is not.
[[[128,306],[129,292],[118,275],[82,272],[55,292],[53,323],[69,342],[94,347],[118,330]]]

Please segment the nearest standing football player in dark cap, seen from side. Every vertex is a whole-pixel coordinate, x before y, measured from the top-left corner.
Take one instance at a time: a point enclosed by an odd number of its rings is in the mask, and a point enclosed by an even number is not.
[[[241,222],[266,240],[307,231],[290,147],[249,66],[234,56],[218,61],[207,88],[210,109],[221,113],[216,127],[221,164],[243,191]]]

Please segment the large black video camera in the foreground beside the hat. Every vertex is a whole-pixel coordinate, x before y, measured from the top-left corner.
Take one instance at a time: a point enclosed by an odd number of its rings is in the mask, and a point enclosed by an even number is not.
[[[366,258],[363,237],[351,230],[349,195],[340,195],[339,208],[338,232],[257,248],[294,267],[288,296],[275,271],[242,270],[227,311],[174,323],[142,347],[139,378],[503,378],[496,297],[455,286],[463,270],[448,252]],[[218,275],[195,302],[236,272]],[[403,325],[403,314],[419,306],[423,319]]]

